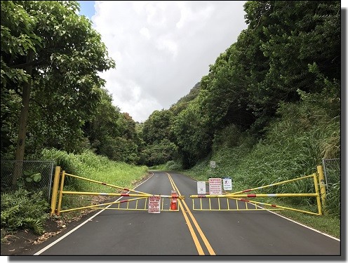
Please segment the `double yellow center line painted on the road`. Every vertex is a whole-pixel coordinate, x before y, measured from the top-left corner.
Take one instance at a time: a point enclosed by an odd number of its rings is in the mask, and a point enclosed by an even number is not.
[[[166,173],[166,174],[168,175],[170,184],[172,184],[173,189],[175,189],[178,192],[178,195],[181,196],[178,187],[175,185],[175,182],[173,181],[173,178],[170,176],[170,174],[168,174],[168,173]],[[192,215],[192,213],[189,210],[189,207],[187,206],[185,201],[178,199],[178,203],[180,205],[182,215],[184,215],[185,221],[187,223],[187,227],[189,227],[189,232],[191,233],[192,239],[194,240],[194,245],[196,245],[196,249],[197,249],[199,255],[205,255],[205,254],[204,254],[203,248],[201,246],[201,243],[199,243],[199,239],[196,236],[194,228],[192,227],[192,224],[189,221],[189,217],[191,217],[191,220],[194,223],[194,226],[196,227],[199,235],[201,236],[204,245],[206,245],[206,248],[208,249],[209,254],[210,255],[215,255],[215,252],[214,252],[213,248],[211,247],[210,243],[208,242],[208,239],[206,238],[206,236],[203,234],[203,231],[202,231],[201,227],[199,227],[199,224],[197,223],[196,219],[194,218],[194,215]],[[185,206],[186,210],[184,210],[184,206]],[[189,214],[189,217],[187,217],[186,213]]]

